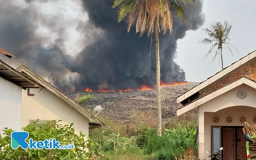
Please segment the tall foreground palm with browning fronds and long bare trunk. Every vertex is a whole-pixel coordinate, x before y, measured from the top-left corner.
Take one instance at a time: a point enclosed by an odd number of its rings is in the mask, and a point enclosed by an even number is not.
[[[147,32],[148,35],[155,31],[156,42],[156,87],[157,87],[157,133],[162,134],[162,112],[161,112],[161,90],[160,90],[160,58],[159,58],[159,32],[163,34],[170,31],[172,33],[172,13],[170,7],[174,9],[184,22],[187,22],[184,6],[186,2],[194,0],[114,0],[113,8],[119,6],[118,22],[127,17],[127,31],[136,23],[136,33],[140,36]]]

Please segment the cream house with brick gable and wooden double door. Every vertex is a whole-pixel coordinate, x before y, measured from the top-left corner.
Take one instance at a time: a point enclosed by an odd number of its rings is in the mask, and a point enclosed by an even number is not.
[[[256,51],[177,97],[177,115],[198,115],[198,158],[223,147],[222,160],[247,160],[243,123],[256,124]],[[252,135],[251,135],[252,136]]]

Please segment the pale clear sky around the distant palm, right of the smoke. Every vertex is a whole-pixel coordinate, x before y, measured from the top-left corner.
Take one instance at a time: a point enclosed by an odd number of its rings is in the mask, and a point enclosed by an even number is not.
[[[256,50],[255,6],[255,0],[242,3],[238,0],[204,0],[204,25],[197,31],[188,31],[185,38],[178,41],[175,61],[185,71],[186,81],[201,82],[221,70],[218,58],[212,63],[214,52],[204,59],[211,45],[197,43],[201,38],[207,38],[202,29],[212,22],[226,20],[232,25],[229,43],[239,50],[238,53],[233,49],[233,56],[227,49],[223,51],[224,67]]]

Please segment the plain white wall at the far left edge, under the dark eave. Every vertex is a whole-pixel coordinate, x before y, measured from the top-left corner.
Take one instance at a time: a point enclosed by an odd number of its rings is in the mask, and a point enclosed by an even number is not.
[[[20,131],[21,90],[21,87],[0,77],[0,130],[8,127]]]

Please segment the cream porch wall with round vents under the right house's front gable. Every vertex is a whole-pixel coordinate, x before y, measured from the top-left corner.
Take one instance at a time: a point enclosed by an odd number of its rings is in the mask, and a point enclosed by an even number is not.
[[[239,89],[247,91],[245,99],[236,97],[236,92]],[[250,106],[250,107],[248,107]],[[204,111],[204,152],[206,160],[208,154],[206,151],[211,150],[211,126],[243,126],[240,123],[240,116],[245,116],[246,121],[253,125],[253,117],[256,116],[256,89],[242,84],[221,96],[212,99],[203,105],[200,105],[198,110]],[[213,116],[219,116],[219,123],[213,123]],[[233,122],[226,123],[226,116],[232,116]]]

